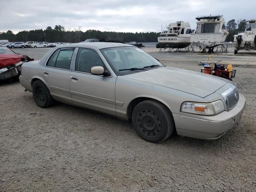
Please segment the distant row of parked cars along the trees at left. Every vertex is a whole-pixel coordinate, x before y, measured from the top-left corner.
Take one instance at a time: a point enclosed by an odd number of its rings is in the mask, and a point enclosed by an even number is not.
[[[6,46],[8,48],[46,48],[46,47],[58,47],[66,44],[71,44],[71,43],[61,43],[61,42],[48,43],[48,42],[37,42],[37,41],[0,43],[0,45]]]

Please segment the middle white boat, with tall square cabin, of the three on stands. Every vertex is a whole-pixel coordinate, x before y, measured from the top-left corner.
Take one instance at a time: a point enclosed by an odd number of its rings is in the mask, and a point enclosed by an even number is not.
[[[190,34],[192,43],[210,45],[225,42],[228,31],[222,15],[198,16],[196,20],[196,30]]]

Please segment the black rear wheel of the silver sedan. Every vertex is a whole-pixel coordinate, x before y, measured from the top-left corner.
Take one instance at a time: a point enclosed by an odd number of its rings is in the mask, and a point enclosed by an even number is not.
[[[47,108],[54,104],[54,99],[52,98],[50,91],[42,81],[35,81],[32,88],[33,98],[38,106]]]

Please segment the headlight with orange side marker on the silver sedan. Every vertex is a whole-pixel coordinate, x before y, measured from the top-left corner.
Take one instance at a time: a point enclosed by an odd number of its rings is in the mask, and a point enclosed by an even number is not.
[[[222,100],[218,100],[212,103],[184,102],[180,111],[198,115],[216,115],[224,110]]]

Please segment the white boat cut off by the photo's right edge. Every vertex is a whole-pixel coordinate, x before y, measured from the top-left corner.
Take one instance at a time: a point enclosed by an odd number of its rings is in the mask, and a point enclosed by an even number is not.
[[[235,51],[237,54],[238,50],[254,50],[256,44],[256,19],[246,21],[246,28],[244,32],[238,32],[234,35]]]

